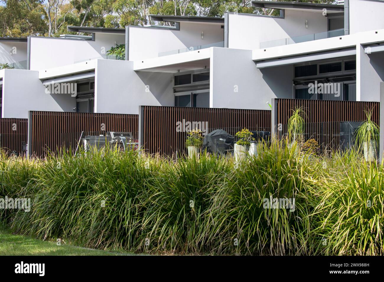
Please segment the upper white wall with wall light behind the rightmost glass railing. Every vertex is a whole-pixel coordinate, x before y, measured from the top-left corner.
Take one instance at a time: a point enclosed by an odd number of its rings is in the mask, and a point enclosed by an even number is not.
[[[285,10],[285,18],[229,13],[228,47],[259,49],[261,42],[326,32],[327,29],[327,17],[322,11]]]

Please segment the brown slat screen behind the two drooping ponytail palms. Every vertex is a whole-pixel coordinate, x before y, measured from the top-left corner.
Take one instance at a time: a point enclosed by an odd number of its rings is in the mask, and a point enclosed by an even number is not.
[[[302,99],[276,99],[277,120],[272,126],[283,127],[283,132],[275,129],[281,138],[286,131],[292,110],[303,107],[306,113],[305,134],[318,141],[322,150],[338,149],[340,122],[360,122],[366,120],[364,111],[373,110],[372,120],[379,124],[379,102],[326,101]]]

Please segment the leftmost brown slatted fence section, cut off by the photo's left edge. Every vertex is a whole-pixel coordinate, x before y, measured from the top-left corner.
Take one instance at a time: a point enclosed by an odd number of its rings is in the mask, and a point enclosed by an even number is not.
[[[22,153],[22,142],[27,142],[28,119],[0,118],[0,147],[5,152]]]

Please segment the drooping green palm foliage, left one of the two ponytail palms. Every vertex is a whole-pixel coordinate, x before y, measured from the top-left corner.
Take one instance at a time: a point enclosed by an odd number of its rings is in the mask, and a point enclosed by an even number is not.
[[[298,153],[300,143],[303,141],[305,112],[302,107],[296,107],[288,120],[288,148],[296,145],[295,154]]]

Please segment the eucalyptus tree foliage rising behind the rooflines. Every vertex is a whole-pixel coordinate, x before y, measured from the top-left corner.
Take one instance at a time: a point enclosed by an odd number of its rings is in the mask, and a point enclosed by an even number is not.
[[[282,0],[290,1],[290,0]],[[334,0],[299,0],[327,3]],[[215,16],[225,12],[278,15],[251,0],[0,0],[0,36],[59,36],[68,25],[124,28],[154,24],[149,15]]]

